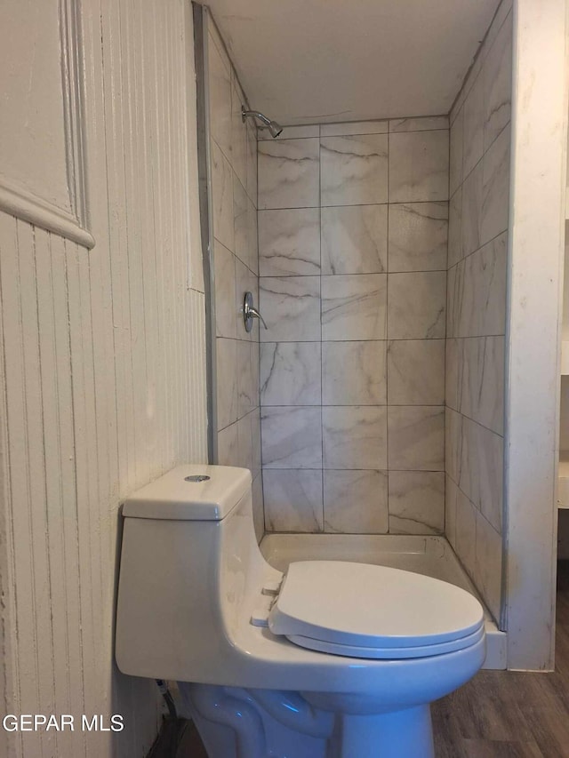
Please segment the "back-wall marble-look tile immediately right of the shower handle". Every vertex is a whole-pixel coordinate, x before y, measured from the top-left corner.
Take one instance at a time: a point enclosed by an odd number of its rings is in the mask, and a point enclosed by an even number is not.
[[[319,341],[320,277],[261,277],[260,313],[267,323],[262,342]]]

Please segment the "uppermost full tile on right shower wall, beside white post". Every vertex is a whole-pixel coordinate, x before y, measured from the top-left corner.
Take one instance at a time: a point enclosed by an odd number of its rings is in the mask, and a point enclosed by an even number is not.
[[[509,123],[512,88],[512,24],[505,22],[484,63],[484,145],[487,150]]]

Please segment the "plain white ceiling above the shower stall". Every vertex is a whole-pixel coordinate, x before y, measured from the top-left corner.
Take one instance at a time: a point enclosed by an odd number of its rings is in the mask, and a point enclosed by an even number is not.
[[[281,124],[448,113],[499,0],[210,0],[251,107]]]

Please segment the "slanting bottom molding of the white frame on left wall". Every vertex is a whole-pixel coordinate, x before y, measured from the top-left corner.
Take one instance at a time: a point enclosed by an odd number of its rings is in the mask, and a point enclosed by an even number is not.
[[[91,249],[95,240],[90,232],[80,226],[78,219],[58,205],[38,197],[15,182],[0,176],[0,211],[5,211],[36,227],[47,229]]]

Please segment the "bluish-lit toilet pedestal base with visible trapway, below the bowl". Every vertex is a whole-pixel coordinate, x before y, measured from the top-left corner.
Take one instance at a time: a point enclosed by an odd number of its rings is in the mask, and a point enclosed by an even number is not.
[[[209,758],[434,758],[429,705],[333,713],[337,696],[179,682]],[[341,696],[340,696],[341,697]],[[324,708],[319,707],[324,705]]]

